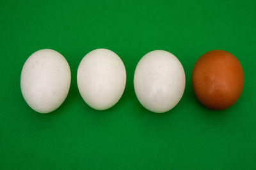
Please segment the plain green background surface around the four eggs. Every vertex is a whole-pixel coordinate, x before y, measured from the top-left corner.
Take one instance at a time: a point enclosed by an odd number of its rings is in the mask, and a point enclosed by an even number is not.
[[[0,169],[256,169],[256,1],[1,1]],[[40,114],[20,92],[31,53],[60,52],[72,82],[58,110]],[[105,111],[84,103],[76,83],[86,53],[108,48],[124,61],[127,84]],[[184,96],[173,110],[145,110],[134,93],[136,64],[151,50],[178,57]],[[244,89],[234,106],[204,108],[191,85],[209,50],[234,54]]]

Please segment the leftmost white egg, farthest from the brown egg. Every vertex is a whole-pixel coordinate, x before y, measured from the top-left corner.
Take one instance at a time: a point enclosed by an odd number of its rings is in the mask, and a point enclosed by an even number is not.
[[[20,76],[20,88],[33,110],[49,113],[65,101],[70,80],[67,60],[54,50],[44,49],[26,60]]]

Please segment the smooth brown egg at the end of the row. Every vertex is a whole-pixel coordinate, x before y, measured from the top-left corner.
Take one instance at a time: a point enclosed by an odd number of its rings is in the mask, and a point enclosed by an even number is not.
[[[192,83],[200,103],[212,110],[224,110],[236,103],[241,95],[243,68],[231,53],[212,50],[196,61]]]

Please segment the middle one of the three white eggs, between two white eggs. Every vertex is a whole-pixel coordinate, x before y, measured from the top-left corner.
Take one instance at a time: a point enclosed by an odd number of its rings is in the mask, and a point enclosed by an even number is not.
[[[84,101],[96,110],[106,110],[114,106],[124,92],[125,83],[124,63],[110,50],[93,50],[79,64],[79,92]]]

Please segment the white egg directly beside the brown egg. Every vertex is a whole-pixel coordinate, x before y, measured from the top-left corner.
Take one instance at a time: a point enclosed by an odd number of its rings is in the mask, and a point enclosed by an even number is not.
[[[179,59],[164,50],[147,53],[134,73],[134,89],[147,110],[164,113],[179,103],[185,89],[185,73]]]

